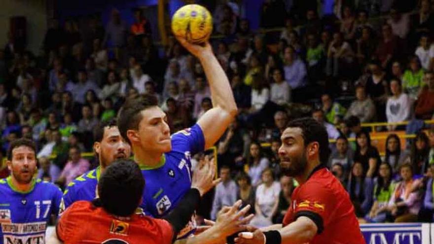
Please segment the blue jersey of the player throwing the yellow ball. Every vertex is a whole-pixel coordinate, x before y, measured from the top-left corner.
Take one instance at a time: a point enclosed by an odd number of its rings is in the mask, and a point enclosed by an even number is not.
[[[143,203],[146,215],[161,218],[178,205],[191,187],[191,156],[201,152],[205,139],[199,125],[172,135],[172,151],[164,153],[160,164],[153,168],[141,166],[145,178]],[[179,233],[183,238],[196,229],[193,220]]]

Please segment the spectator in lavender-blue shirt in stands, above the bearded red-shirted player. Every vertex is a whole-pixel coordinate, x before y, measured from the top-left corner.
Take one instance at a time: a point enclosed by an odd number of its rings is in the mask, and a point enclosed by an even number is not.
[[[284,64],[285,79],[288,81],[288,84],[292,89],[292,94],[294,95],[292,100],[294,102],[300,102],[305,99],[303,98],[303,95],[299,93],[300,89],[307,85],[306,65],[297,57],[292,46],[285,48]],[[299,96],[300,99],[296,99],[296,95]]]

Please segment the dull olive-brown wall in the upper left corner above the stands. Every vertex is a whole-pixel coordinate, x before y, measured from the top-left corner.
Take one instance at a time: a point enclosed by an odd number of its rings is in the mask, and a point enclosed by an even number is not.
[[[38,54],[47,30],[46,0],[1,0],[0,2],[1,48],[7,42],[10,17],[24,16],[27,20],[27,48]]]

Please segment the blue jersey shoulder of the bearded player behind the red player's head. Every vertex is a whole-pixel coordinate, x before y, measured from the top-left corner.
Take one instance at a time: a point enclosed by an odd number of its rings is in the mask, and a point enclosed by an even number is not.
[[[100,174],[101,168],[98,167],[72,180],[63,193],[65,207],[68,208],[76,201],[95,199]]]

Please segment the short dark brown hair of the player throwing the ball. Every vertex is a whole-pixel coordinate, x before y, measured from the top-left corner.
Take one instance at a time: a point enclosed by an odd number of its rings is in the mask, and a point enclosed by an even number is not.
[[[142,120],[142,111],[146,108],[158,106],[158,99],[149,94],[138,95],[134,98],[127,99],[121,107],[117,116],[117,127],[120,135],[127,140],[127,131],[130,129],[138,129],[139,123]]]

